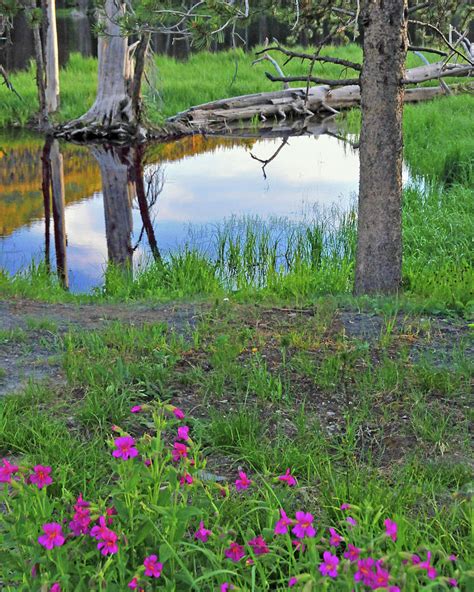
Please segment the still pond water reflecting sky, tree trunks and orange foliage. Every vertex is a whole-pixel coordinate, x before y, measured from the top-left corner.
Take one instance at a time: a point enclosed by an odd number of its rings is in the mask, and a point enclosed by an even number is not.
[[[0,269],[46,261],[74,292],[102,286],[107,262],[136,268],[184,245],[212,257],[225,220],[347,211],[358,185],[357,151],[330,135],[192,136],[146,150],[10,135],[0,147]]]

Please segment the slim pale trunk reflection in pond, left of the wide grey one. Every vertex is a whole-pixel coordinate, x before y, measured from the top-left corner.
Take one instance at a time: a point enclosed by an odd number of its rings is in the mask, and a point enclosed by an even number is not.
[[[54,245],[56,249],[56,267],[58,277],[64,288],[69,288],[69,276],[66,257],[66,221],[63,157],[59,152],[59,142],[51,145],[51,188],[53,196]]]

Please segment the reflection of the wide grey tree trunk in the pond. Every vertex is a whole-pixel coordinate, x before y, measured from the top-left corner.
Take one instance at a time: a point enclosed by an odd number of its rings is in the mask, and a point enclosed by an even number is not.
[[[109,262],[132,273],[132,200],[129,148],[95,146],[92,153],[100,167],[104,199],[105,233]]]

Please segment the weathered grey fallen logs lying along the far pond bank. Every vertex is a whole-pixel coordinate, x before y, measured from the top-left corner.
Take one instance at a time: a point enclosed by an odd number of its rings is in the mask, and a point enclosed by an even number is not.
[[[271,49],[271,48],[269,48]],[[309,56],[308,56],[309,57]],[[427,80],[440,80],[444,77],[466,77],[474,75],[474,66],[468,63],[436,62],[419,66],[406,71],[404,84],[418,84]],[[307,81],[308,77],[273,76],[267,73],[273,81]],[[311,79],[310,81],[319,81]],[[340,81],[327,81],[329,84],[312,86],[309,89],[289,88],[280,91],[255,93],[221,99],[203,105],[197,105],[178,113],[168,121],[173,124],[181,123],[194,130],[201,131],[233,131],[242,127],[253,126],[260,128],[267,120],[285,121],[294,117],[309,120],[313,116],[327,117],[341,109],[355,107],[360,104],[360,86],[353,84],[357,79],[350,79],[351,84],[340,85]],[[414,87],[405,91],[405,102],[418,102],[449,94],[449,87]]]

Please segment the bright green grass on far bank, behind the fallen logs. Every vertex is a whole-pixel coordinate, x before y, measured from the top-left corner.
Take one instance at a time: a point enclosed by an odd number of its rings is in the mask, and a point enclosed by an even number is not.
[[[356,45],[328,47],[323,53],[361,61],[361,50]],[[167,56],[157,56],[157,71],[150,76],[153,92],[145,88],[148,98],[148,117],[152,123],[159,124],[166,117],[206,101],[237,96],[247,93],[269,91],[279,88],[265,77],[265,72],[273,66],[263,62],[252,66],[253,53],[242,50],[219,53],[199,52],[186,61],[178,61]],[[280,60],[281,61],[281,60]],[[408,58],[408,66],[419,65],[420,60],[413,55]],[[156,74],[156,75],[155,75]],[[304,76],[307,67],[298,61],[285,66],[288,76]],[[333,64],[318,65],[315,75],[325,78],[351,77],[357,75],[353,70],[344,70]],[[0,127],[26,125],[38,110],[35,85],[35,71],[31,65],[28,71],[11,75],[11,82],[21,95],[19,99],[0,86]],[[61,107],[57,121],[68,121],[82,115],[94,102],[97,87],[97,60],[73,54],[67,66],[60,72]],[[301,86],[301,83],[294,84]]]

